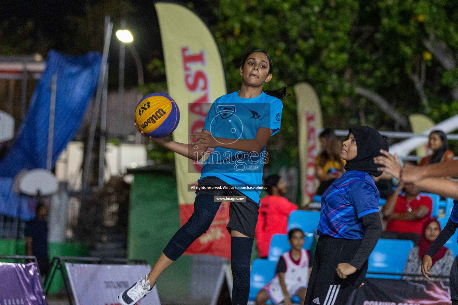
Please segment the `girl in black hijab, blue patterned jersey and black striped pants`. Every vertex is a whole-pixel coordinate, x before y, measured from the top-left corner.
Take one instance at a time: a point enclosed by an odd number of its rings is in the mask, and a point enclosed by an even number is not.
[[[344,305],[367,272],[367,259],[376,246],[382,224],[374,157],[387,150],[385,139],[367,126],[349,129],[340,157],[345,173],[322,196],[320,235],[305,305]]]

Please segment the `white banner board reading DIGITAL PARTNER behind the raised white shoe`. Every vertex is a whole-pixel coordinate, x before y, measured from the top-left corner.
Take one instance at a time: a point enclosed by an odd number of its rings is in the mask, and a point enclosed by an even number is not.
[[[118,303],[118,295],[151,270],[149,265],[95,265],[66,262],[76,305]],[[142,305],[160,305],[156,286],[141,300]]]

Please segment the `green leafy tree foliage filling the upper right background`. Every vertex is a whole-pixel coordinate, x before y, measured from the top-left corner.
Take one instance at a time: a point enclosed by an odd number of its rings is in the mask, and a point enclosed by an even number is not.
[[[287,143],[291,156],[297,143],[291,87],[301,81],[315,88],[329,128],[362,122],[409,130],[403,122],[410,113],[425,113],[436,122],[458,113],[458,8],[453,1],[207,1],[218,20],[213,31],[229,91],[240,88],[240,60],[253,48],[265,49],[273,59],[273,80],[265,89],[290,87],[282,137],[275,141]],[[277,142],[274,148],[285,147]]]

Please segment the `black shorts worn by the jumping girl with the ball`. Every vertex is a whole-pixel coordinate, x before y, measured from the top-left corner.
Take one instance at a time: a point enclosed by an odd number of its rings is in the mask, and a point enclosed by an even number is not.
[[[212,184],[212,185],[227,185],[228,183],[219,179],[218,177],[208,176],[197,180],[198,185]],[[255,238],[256,223],[259,215],[259,205],[241,193],[238,190],[228,191],[196,191],[196,195],[209,193],[213,196],[245,196],[246,202],[231,202],[229,205],[229,223],[226,226],[229,233],[231,229],[234,229],[243,235]]]

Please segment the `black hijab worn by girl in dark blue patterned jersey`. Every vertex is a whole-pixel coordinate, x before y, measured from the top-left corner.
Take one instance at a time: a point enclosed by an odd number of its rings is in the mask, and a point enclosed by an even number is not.
[[[357,154],[347,161],[345,171],[365,171],[369,175],[379,177],[382,171],[377,171],[374,158],[380,155],[380,150],[388,150],[388,143],[382,135],[369,126],[351,127],[348,134],[353,134],[356,140]]]

